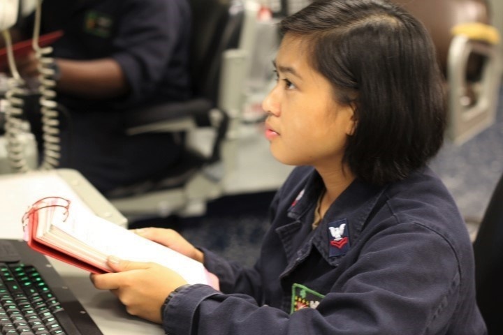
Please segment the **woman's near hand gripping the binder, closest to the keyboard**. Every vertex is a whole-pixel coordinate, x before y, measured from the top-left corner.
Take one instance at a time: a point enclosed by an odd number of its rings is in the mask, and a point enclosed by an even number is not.
[[[111,290],[126,306],[126,311],[145,320],[161,323],[161,306],[175,288],[187,281],[175,271],[154,262],[131,262],[108,258],[115,273],[92,274],[91,281],[100,290]]]

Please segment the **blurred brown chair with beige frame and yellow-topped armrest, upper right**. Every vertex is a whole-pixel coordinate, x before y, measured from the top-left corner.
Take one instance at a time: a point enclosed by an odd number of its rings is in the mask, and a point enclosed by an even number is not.
[[[446,77],[449,139],[462,144],[494,124],[502,60],[487,0],[393,2],[409,10],[431,33]]]

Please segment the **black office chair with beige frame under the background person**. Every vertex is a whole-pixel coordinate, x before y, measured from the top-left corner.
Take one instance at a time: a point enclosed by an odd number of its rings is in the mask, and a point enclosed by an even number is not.
[[[163,179],[143,181],[105,194],[130,221],[170,214],[204,214],[208,201],[230,193],[228,185],[237,169],[248,55],[254,47],[254,24],[260,7],[256,1],[190,2],[194,22],[191,75],[196,97],[141,112],[131,111],[128,129],[131,135],[184,133],[188,137],[186,157],[180,168],[168,171]],[[193,136],[196,141],[191,141]],[[201,143],[210,146],[201,147]],[[286,173],[280,175],[286,177]],[[258,181],[241,191],[274,191],[284,180],[282,177],[270,179],[265,186]]]

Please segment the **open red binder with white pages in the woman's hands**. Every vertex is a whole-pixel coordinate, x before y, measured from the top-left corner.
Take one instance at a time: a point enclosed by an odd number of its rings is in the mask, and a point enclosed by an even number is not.
[[[31,248],[94,274],[111,272],[106,260],[114,255],[123,260],[156,262],[190,284],[218,285],[200,262],[88,211],[72,208],[64,198],[38,200],[22,221],[24,240]]]

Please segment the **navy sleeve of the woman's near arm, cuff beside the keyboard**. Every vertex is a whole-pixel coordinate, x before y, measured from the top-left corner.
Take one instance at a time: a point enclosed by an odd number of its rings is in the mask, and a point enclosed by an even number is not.
[[[463,299],[460,276],[459,260],[441,235],[404,223],[377,234],[317,308],[290,314],[247,295],[193,285],[163,310],[163,327],[176,335],[481,335],[439,329],[453,315],[449,301]]]

